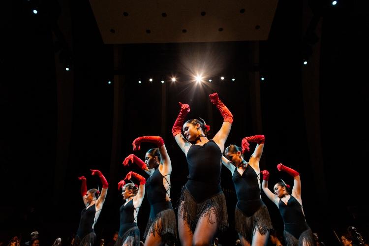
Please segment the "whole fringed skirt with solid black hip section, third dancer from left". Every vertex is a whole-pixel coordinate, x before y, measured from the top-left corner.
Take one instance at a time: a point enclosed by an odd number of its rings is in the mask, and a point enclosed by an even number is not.
[[[153,233],[161,237],[161,241],[172,245],[177,240],[177,221],[171,202],[151,205],[150,217],[146,225],[144,238]]]

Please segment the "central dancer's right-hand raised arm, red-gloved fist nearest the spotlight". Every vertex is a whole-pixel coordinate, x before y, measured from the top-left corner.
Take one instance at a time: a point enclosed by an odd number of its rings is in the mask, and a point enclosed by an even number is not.
[[[220,130],[215,134],[213,140],[218,144],[220,151],[224,151],[224,143],[228,138],[229,132],[231,131],[233,123],[233,115],[229,109],[220,101],[218,93],[213,93],[209,95],[211,102],[218,108],[220,114],[223,117],[223,124]]]

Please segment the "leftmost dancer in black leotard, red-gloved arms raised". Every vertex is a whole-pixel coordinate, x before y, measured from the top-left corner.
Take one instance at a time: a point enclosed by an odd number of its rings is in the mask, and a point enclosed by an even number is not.
[[[98,175],[102,183],[101,194],[97,189],[87,190],[85,176],[79,177],[82,181],[81,195],[85,204],[85,209],[81,212],[74,246],[93,246],[96,241],[96,234],[93,230],[95,223],[100,215],[102,205],[105,202],[106,193],[108,192],[108,182],[99,170],[91,170],[92,175]]]

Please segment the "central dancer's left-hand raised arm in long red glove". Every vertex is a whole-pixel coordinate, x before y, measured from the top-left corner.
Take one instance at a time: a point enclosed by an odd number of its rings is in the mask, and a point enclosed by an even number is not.
[[[181,102],[179,104],[181,106],[181,110],[172,127],[172,133],[173,133],[173,137],[176,140],[178,146],[181,148],[183,153],[187,155],[189,147],[191,147],[192,144],[184,138],[182,134],[182,126],[184,123],[184,118],[190,111],[190,108],[188,104],[182,104]]]

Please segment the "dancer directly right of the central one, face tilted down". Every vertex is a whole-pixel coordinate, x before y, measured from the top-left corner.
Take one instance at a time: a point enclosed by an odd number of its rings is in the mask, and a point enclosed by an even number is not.
[[[244,152],[249,152],[249,143],[257,143],[248,162]],[[223,164],[231,171],[236,188],[235,229],[242,246],[267,245],[270,229],[273,228],[269,212],[260,194],[259,161],[263,154],[265,137],[256,135],[242,140],[241,149],[237,145],[228,146]]]

